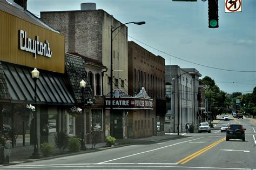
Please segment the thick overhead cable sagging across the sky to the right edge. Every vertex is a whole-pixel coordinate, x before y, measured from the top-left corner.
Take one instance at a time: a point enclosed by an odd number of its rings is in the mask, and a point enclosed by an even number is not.
[[[192,64],[200,65],[200,66],[203,66],[203,67],[208,67],[208,68],[211,68],[211,69],[223,70],[223,71],[232,71],[232,72],[256,72],[256,71],[244,71],[244,70],[220,69],[220,68],[217,68],[217,67],[212,67],[212,66],[207,66],[207,65],[203,65],[203,64],[198,64],[198,63],[190,62],[190,61],[188,61],[188,60],[185,60],[185,59],[182,59],[182,58],[179,58],[179,57],[176,57],[176,56],[170,55],[169,53],[166,53],[166,52],[164,52],[164,51],[158,50],[158,49],[156,49],[155,47],[150,46],[150,45],[147,45],[147,44],[145,44],[145,43],[141,42],[140,40],[138,40],[138,39],[136,39],[136,38],[133,38],[133,37],[131,37],[131,36],[128,36],[128,37],[130,37],[130,38],[132,38],[132,39],[136,40],[137,42],[142,43],[142,44],[144,44],[144,45],[146,45],[146,46],[148,46],[148,47],[151,47],[151,49],[157,50],[157,51],[159,51],[159,52],[161,52],[161,53],[164,53],[165,55],[168,55],[168,56],[171,56],[171,57],[174,57],[174,58],[177,58],[177,59],[183,60],[184,62],[188,62],[188,63],[192,63]]]

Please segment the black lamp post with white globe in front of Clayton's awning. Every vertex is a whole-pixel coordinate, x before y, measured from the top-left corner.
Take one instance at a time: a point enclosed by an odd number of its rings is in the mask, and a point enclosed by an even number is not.
[[[34,88],[34,94],[35,94],[35,98],[34,98],[34,102],[35,102],[35,116],[34,116],[34,151],[32,153],[32,156],[37,156],[39,157],[39,151],[38,151],[38,139],[37,139],[37,93],[36,93],[36,81],[39,78],[39,71],[35,68],[33,71],[31,71],[31,76],[35,82],[35,88]]]

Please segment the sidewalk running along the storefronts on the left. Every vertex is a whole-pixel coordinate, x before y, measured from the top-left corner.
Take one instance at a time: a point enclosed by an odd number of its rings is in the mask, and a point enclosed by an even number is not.
[[[9,164],[5,165],[14,165],[14,164],[20,164],[22,162],[31,162],[31,161],[36,161],[36,160],[45,160],[45,159],[52,159],[52,158],[60,158],[60,157],[66,157],[70,155],[77,155],[77,154],[84,154],[84,153],[90,153],[90,152],[97,152],[97,151],[102,151],[103,149],[111,149],[115,147],[122,147],[122,146],[127,146],[127,145],[141,145],[141,144],[146,144],[149,142],[159,142],[163,140],[174,140],[174,139],[180,139],[184,138],[184,135],[177,135],[177,134],[165,134],[165,135],[158,135],[158,136],[152,136],[152,137],[147,137],[147,138],[139,138],[139,139],[117,139],[116,143],[117,146],[113,147],[106,147],[106,143],[102,142],[96,145],[95,149],[92,149],[91,144],[86,144],[86,151],[80,151],[80,152],[69,152],[68,150],[65,151],[65,154],[60,154],[59,150],[56,148],[55,155],[52,157],[43,157],[42,159],[30,159],[29,157],[33,153],[33,146],[27,147],[24,151],[19,151],[19,152],[11,152],[10,156],[10,161]],[[1,167],[2,165],[0,165]]]

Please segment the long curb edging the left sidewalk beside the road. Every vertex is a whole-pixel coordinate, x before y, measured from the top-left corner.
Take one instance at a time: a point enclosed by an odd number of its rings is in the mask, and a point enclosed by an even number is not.
[[[54,158],[61,158],[61,157],[69,157],[72,155],[79,155],[79,154],[84,154],[84,153],[91,153],[91,152],[98,152],[98,151],[103,151],[106,149],[112,149],[112,148],[118,148],[118,147],[124,147],[124,146],[130,146],[130,145],[137,145],[137,144],[145,144],[149,142],[155,142],[155,141],[163,141],[163,140],[174,140],[174,139],[180,139],[180,138],[185,138],[185,135],[177,135],[175,137],[171,138],[166,138],[166,139],[159,139],[159,140],[142,140],[141,142],[134,142],[131,144],[125,144],[125,145],[118,145],[118,146],[113,146],[113,147],[99,147],[90,151],[80,151],[80,152],[74,152],[74,153],[68,153],[68,154],[60,154],[52,157],[45,157],[42,159],[37,159],[37,160],[26,160],[26,161],[21,161],[21,162],[14,162],[14,163],[9,163],[9,164],[3,164],[1,166],[11,166],[11,165],[17,165],[17,164],[23,164],[23,163],[28,163],[28,162],[34,162],[34,161],[39,161],[39,160],[49,160],[49,159],[54,159]]]

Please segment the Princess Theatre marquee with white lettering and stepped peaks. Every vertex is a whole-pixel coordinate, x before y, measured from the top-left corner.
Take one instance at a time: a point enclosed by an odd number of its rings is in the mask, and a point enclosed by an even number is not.
[[[105,97],[106,109],[110,109],[111,98],[110,94]],[[125,110],[140,110],[147,109],[153,110],[153,99],[151,99],[142,87],[139,94],[135,97],[131,97],[120,90],[114,90],[112,99],[113,109],[125,109]]]

